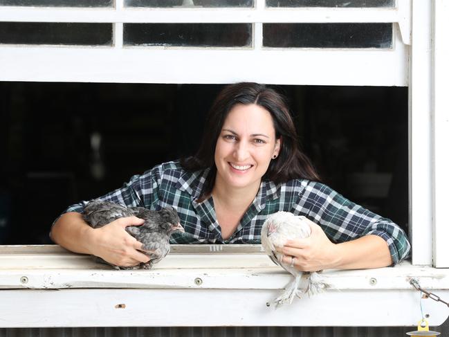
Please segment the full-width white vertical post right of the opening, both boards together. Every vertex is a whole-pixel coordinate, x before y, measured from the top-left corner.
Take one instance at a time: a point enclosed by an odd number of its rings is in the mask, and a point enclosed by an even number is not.
[[[449,267],[448,3],[412,1],[409,85],[410,236],[412,262]],[[433,41],[433,43],[432,43]]]

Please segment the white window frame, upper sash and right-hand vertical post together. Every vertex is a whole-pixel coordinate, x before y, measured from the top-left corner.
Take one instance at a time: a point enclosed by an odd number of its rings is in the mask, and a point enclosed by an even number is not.
[[[447,14],[444,0],[433,0]],[[432,29],[432,22],[435,26]],[[444,93],[448,24],[432,1],[396,8],[28,8],[1,7],[0,21],[105,22],[113,46],[0,45],[0,80],[33,82],[230,83],[409,86],[410,237],[413,264],[449,267],[444,225],[449,164]],[[250,48],[124,47],[124,23],[254,23]],[[264,48],[263,23],[392,22],[393,48]],[[432,54],[434,31],[434,60]],[[410,39],[412,45],[410,48]],[[447,59],[447,58],[446,58]],[[435,67],[433,66],[435,62]],[[220,66],[217,66],[219,64]],[[433,92],[433,90],[435,90]],[[434,93],[434,95],[433,95]],[[434,99],[434,100],[433,100]],[[446,119],[445,119],[446,117]],[[438,165],[437,165],[438,164]]]

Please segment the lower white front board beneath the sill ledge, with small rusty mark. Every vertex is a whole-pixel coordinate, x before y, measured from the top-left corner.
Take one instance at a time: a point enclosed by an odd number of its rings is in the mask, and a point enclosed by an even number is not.
[[[0,327],[415,326],[419,293],[328,291],[266,307],[256,289],[62,289],[0,291]],[[448,293],[446,292],[446,296]],[[448,311],[426,300],[432,326]]]

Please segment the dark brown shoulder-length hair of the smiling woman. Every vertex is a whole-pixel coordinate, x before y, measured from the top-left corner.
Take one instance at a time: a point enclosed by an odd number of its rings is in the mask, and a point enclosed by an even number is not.
[[[203,140],[198,151],[194,156],[181,160],[181,165],[188,171],[210,167],[203,197],[212,192],[217,174],[214,163],[215,145],[229,111],[236,104],[257,104],[266,109],[273,118],[276,139],[282,137],[279,156],[271,161],[262,179],[274,183],[285,183],[292,179],[320,181],[311,161],[300,150],[295,124],[285,98],[264,84],[242,82],[230,84],[219,93],[205,120]]]

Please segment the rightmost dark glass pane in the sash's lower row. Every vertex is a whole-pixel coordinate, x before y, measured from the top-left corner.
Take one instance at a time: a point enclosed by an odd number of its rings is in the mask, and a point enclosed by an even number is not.
[[[392,48],[392,24],[264,24],[264,46]]]

